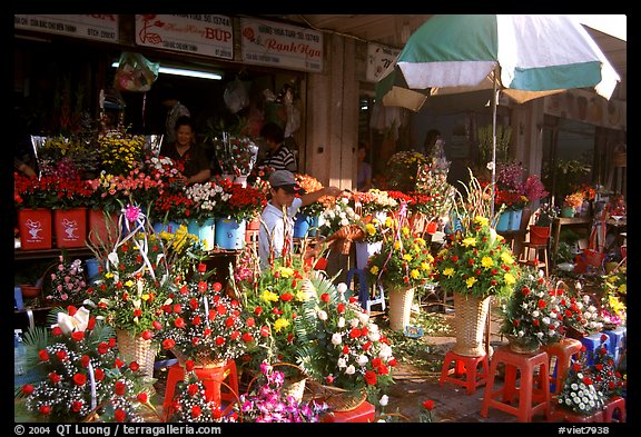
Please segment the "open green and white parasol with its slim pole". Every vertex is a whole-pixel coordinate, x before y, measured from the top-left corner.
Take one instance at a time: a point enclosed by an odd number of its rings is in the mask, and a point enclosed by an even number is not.
[[[400,88],[403,83],[415,92],[415,99],[425,90],[430,96],[493,90],[495,163],[499,92],[525,102],[593,87],[610,99],[619,81],[599,46],[571,17],[435,14],[410,37],[377,83],[377,93],[387,97],[392,86]],[[391,105],[389,100],[385,103],[384,98],[384,105]],[[393,105],[407,107],[397,100]],[[416,102],[413,106],[421,108]]]

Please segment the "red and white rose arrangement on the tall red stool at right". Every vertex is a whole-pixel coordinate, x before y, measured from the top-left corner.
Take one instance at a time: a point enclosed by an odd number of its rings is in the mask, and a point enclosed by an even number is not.
[[[524,274],[502,304],[501,334],[532,350],[561,340],[564,328],[559,291],[562,289],[556,289],[541,272]]]

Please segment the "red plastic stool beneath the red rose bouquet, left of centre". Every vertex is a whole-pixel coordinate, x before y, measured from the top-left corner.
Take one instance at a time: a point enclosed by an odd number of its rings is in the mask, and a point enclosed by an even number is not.
[[[199,380],[205,386],[205,399],[207,401],[215,401],[221,405],[223,400],[236,401],[238,399],[238,373],[236,369],[236,361],[228,359],[225,365],[219,367],[195,367],[194,371]],[[221,383],[228,379],[226,384],[228,389],[221,391]],[[185,380],[185,368],[179,362],[169,367],[167,374],[167,386],[165,387],[165,401],[162,403],[162,411],[166,415],[169,413],[169,406],[174,400],[174,391],[178,381]],[[229,391],[230,390],[230,391]]]

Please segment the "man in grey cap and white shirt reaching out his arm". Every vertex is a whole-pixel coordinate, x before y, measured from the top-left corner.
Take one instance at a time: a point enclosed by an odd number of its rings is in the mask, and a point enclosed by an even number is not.
[[[260,267],[267,268],[274,259],[282,257],[285,241],[293,249],[294,217],[298,209],[318,200],[323,196],[338,196],[341,189],[325,187],[314,192],[305,192],[288,170],[275,170],[269,176],[272,199],[263,209],[258,230],[258,257]]]

